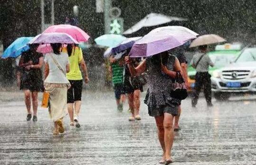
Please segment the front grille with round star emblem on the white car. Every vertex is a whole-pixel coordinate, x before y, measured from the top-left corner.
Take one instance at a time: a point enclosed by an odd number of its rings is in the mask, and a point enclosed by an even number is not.
[[[224,79],[244,79],[250,74],[250,70],[223,70],[222,78]]]

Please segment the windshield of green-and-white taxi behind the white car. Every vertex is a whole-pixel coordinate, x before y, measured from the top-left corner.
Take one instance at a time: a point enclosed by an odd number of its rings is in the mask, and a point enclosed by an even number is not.
[[[227,54],[227,53],[218,53],[209,55],[211,61],[214,63],[215,67],[224,67],[227,64],[235,61],[237,56],[235,54]]]

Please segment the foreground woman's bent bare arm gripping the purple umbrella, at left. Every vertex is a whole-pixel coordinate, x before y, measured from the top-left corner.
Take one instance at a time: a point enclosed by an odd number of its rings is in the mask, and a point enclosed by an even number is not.
[[[136,68],[133,66],[129,56],[126,56],[124,60],[128,64],[132,76],[139,76],[146,70],[146,60],[143,60]]]

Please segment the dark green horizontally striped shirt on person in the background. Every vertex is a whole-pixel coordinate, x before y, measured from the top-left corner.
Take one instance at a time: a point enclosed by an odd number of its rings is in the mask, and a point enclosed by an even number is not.
[[[123,67],[118,63],[112,64],[112,82],[114,85],[123,83]]]

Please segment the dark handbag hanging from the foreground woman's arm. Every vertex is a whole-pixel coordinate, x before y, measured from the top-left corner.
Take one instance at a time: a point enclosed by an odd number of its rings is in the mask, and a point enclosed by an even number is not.
[[[180,72],[176,72],[176,77],[173,81],[173,90],[171,91],[173,98],[184,100],[188,96],[187,87]]]

